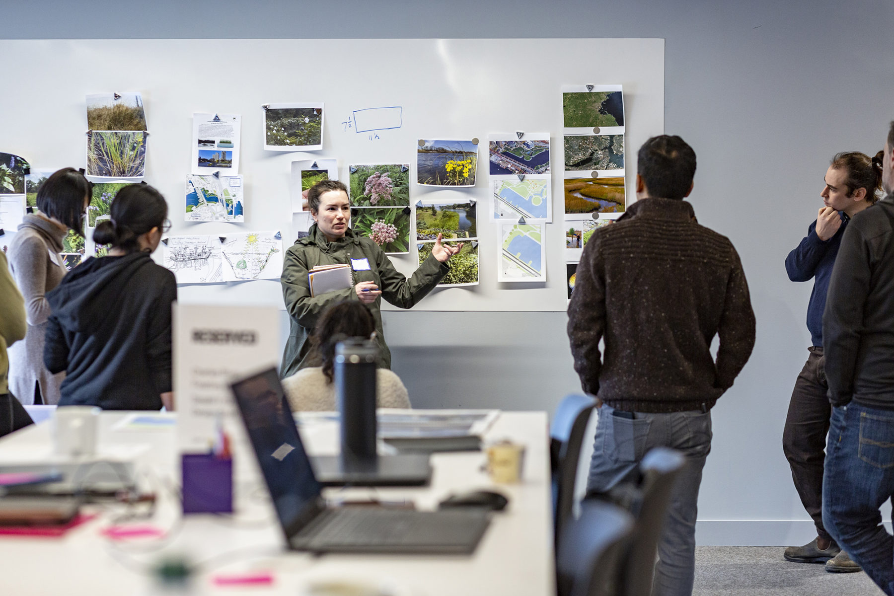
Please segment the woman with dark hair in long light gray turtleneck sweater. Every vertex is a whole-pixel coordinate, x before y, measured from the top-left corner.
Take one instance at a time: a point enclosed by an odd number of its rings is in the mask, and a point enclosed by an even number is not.
[[[25,298],[28,332],[9,349],[9,386],[23,404],[55,404],[63,374],[44,365],[44,335],[50,305],[46,293],[62,281],[63,238],[69,231],[83,236],[83,214],[92,184],[74,168],[63,168],[40,185],[38,212],[25,215],[10,243],[9,264]]]

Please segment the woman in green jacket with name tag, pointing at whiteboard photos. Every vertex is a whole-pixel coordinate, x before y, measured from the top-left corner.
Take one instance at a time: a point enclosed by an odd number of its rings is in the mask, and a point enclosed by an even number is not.
[[[391,368],[391,350],[385,344],[379,298],[394,306],[410,308],[434,289],[450,271],[447,261],[460,252],[457,247],[441,244],[441,235],[432,254],[419,265],[409,280],[394,268],[391,260],[371,239],[351,231],[348,189],[338,180],[322,180],[308,191],[308,208],[316,222],[307,238],[299,239],[285,253],[283,298],[291,317],[291,332],[283,353],[283,377],[295,374],[309,362],[308,334],[326,306],[340,300],[358,299],[369,307],[375,318],[375,337],[379,343],[379,365]],[[352,287],[311,297],[308,272],[318,265],[350,264]]]

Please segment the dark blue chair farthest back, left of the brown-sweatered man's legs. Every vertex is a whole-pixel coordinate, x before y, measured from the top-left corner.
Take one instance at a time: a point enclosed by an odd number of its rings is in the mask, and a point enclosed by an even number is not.
[[[571,394],[561,400],[552,416],[550,427],[552,529],[556,545],[559,544],[562,527],[571,516],[580,447],[584,441],[586,423],[595,405],[596,400],[591,397]]]

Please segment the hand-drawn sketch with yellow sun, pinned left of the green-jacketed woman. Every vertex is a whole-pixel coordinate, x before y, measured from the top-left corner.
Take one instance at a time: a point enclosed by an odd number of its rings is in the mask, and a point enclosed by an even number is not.
[[[228,234],[223,242],[223,281],[278,280],[283,239],[278,231]]]

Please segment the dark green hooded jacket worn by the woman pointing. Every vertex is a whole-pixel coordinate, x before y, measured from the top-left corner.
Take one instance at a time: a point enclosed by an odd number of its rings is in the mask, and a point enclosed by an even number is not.
[[[287,377],[302,368],[316,365],[309,354],[308,336],[326,306],[341,300],[359,299],[353,287],[311,298],[308,271],[317,265],[350,264],[350,259],[362,258],[367,259],[369,270],[352,270],[352,283],[356,285],[359,281],[375,281],[379,290],[382,290],[382,296],[367,306],[375,318],[380,365],[384,368],[391,368],[391,350],[384,340],[380,300],[384,298],[394,306],[410,308],[434,290],[438,281],[450,271],[450,265],[439,263],[434,256],[429,255],[408,280],[394,268],[391,259],[373,240],[360,237],[349,228],[344,238],[330,242],[317,229],[316,223],[313,224],[307,238],[299,239],[285,251],[280,281],[283,283],[285,309],[290,316],[290,332],[283,352],[280,376]]]

